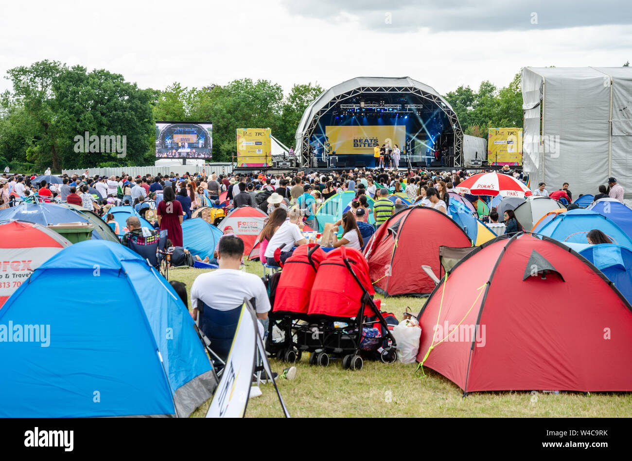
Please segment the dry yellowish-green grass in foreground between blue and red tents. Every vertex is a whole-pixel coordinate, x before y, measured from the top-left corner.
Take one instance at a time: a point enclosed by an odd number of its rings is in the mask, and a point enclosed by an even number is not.
[[[246,270],[261,275],[258,262]],[[173,269],[169,279],[186,283],[187,292],[204,269]],[[217,289],[229,289],[229,287]],[[377,295],[380,296],[380,295]],[[406,306],[418,312],[425,298],[382,298],[382,310],[401,318]],[[270,360],[281,372],[284,363]],[[343,370],[340,361],[326,368],[310,366],[303,356],[293,381],[277,380],[281,396],[293,417],[629,417],[632,394],[538,394],[477,392],[463,398],[453,382],[432,370],[425,377],[416,364],[384,365],[365,361],[361,371]],[[272,384],[261,385],[263,395],[248,402],[248,417],[281,417],[283,412]],[[193,417],[204,417],[209,402]]]

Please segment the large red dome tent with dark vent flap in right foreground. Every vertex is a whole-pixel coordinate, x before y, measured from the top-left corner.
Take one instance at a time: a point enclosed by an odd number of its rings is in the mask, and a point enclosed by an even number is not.
[[[417,361],[465,393],[632,390],[632,307],[552,238],[520,233],[475,248],[419,317]]]

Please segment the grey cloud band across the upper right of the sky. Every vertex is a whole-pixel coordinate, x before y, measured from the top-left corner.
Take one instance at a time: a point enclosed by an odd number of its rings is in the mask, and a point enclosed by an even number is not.
[[[520,31],[581,26],[631,25],[632,3],[619,0],[282,0],[289,13],[380,32]]]

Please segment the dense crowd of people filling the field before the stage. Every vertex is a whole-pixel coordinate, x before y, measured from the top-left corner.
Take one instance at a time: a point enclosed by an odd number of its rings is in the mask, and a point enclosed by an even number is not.
[[[376,147],[377,149],[377,147]],[[396,155],[397,146],[384,151],[377,149],[376,163],[382,160],[382,152],[386,163],[389,156]],[[395,163],[397,165],[397,163]],[[504,166],[502,173],[513,175],[518,180],[527,181],[521,170],[512,171]],[[50,173],[50,170],[47,170]],[[8,168],[0,177],[0,209],[13,206],[24,201],[61,201],[94,211],[99,216],[106,216],[106,221],[116,223],[114,216],[108,213],[112,206],[129,205],[138,214],[154,226],[150,233],[167,230],[171,243],[182,246],[181,224],[190,219],[196,209],[216,204],[219,196],[226,192],[229,206],[259,207],[269,214],[269,222],[260,235],[260,242],[265,248],[265,258],[270,264],[278,264],[274,260],[274,252],[281,248],[281,260],[287,259],[291,248],[300,245],[304,239],[301,234],[303,226],[317,230],[316,213],[319,207],[330,197],[341,192],[353,192],[355,199],[351,201],[349,211],[335,223],[342,226],[343,235],[333,243],[334,246],[347,245],[356,249],[363,247],[363,238],[358,224],[366,224],[370,216],[375,228],[382,225],[398,209],[405,207],[401,199],[394,202],[387,198],[391,193],[403,194],[409,202],[422,204],[448,213],[450,195],[456,192],[458,185],[468,176],[464,170],[428,171],[426,169],[387,170],[385,168],[355,168],[327,173],[298,172],[294,175],[277,174],[235,174],[206,175],[201,173],[147,174],[143,177],[132,177],[125,172],[110,177],[90,175],[63,175],[59,184],[49,184],[46,180],[35,183],[36,175],[11,174]],[[559,189],[552,192],[542,182],[533,191],[534,195],[552,197],[556,200],[573,201],[569,184],[564,182]],[[616,178],[608,178],[608,184],[600,185],[595,200],[612,197],[623,201],[624,190],[617,184]],[[368,199],[372,199],[370,207]],[[499,221],[500,220],[500,221]],[[507,212],[498,216],[494,208],[483,221],[490,228],[506,227],[506,231],[522,230],[520,223]],[[362,224],[360,225],[362,226]],[[119,227],[118,224],[114,226]],[[121,233],[120,229],[115,230]],[[125,231],[130,231],[127,226]]]

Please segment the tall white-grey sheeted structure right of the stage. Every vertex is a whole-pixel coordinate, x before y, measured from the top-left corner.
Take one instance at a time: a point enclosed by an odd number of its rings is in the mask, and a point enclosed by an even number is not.
[[[632,197],[632,67],[525,67],[523,165],[576,197],[615,177]]]

